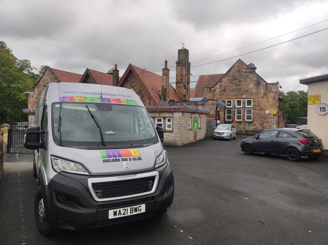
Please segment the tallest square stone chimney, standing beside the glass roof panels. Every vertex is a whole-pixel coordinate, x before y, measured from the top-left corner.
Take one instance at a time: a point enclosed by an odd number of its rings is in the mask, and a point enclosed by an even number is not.
[[[189,50],[182,44],[182,49],[178,50],[178,60],[176,64],[175,91],[181,101],[189,101],[190,94],[190,62]]]

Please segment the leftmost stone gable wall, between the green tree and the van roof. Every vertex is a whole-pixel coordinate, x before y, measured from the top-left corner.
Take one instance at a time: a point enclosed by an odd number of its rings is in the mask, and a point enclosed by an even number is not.
[[[47,68],[40,81],[36,84],[34,90],[28,93],[28,109],[35,109],[37,107],[39,98],[42,92],[46,89],[47,85],[49,83],[57,82],[57,78],[54,76],[54,74],[51,73],[51,70]]]

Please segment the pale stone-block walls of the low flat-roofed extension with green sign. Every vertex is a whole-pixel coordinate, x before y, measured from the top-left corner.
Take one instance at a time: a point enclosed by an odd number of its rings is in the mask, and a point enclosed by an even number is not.
[[[200,117],[200,127],[197,130],[197,141],[206,137],[206,114],[191,112],[149,112],[155,125],[156,117],[172,117],[172,130],[165,130],[165,119],[163,119],[164,142],[163,145],[183,146],[194,142],[193,121]],[[191,129],[189,118],[191,117]]]

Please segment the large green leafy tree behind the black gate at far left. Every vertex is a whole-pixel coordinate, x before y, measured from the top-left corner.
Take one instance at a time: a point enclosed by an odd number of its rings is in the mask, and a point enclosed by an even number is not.
[[[29,60],[17,59],[6,43],[0,41],[0,125],[27,120],[26,91],[40,78]]]

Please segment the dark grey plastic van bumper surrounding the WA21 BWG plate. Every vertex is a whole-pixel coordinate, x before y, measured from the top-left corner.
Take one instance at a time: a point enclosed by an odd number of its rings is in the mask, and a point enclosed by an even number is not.
[[[47,221],[51,227],[57,229],[86,230],[166,212],[174,197],[173,172],[169,164],[156,171],[159,172],[159,183],[154,193],[102,202],[92,198],[87,181],[83,181],[87,178],[73,179],[72,177],[75,177],[73,174],[56,174],[49,184],[41,189]],[[108,218],[109,210],[138,204],[145,204],[144,213]]]

